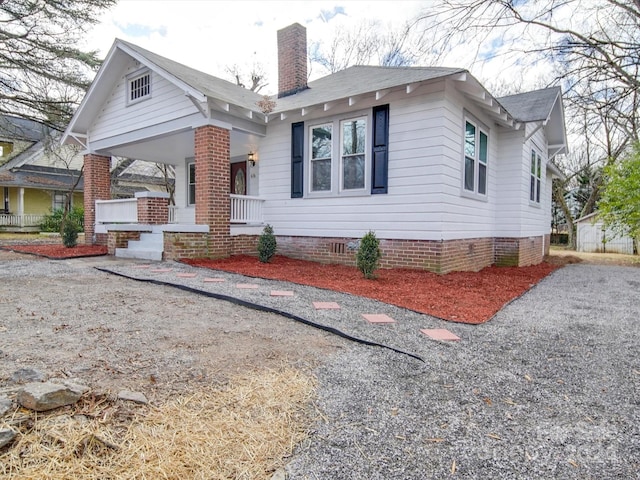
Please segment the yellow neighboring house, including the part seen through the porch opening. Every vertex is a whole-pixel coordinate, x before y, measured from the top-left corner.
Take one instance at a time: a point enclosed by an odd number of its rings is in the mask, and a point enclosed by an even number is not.
[[[71,205],[83,206],[83,156],[74,145],[59,145],[46,126],[0,115],[0,231],[36,231],[45,215]],[[173,190],[175,172],[150,162],[113,159],[114,198],[139,191]]]

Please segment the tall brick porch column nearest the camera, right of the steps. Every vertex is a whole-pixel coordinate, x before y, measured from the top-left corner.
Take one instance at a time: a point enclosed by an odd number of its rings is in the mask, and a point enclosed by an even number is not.
[[[209,225],[209,256],[231,253],[229,130],[205,125],[195,130],[196,223]]]

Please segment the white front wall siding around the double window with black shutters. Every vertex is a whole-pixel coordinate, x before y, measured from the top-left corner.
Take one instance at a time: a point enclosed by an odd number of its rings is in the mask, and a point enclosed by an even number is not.
[[[354,114],[363,112],[371,109]],[[460,135],[445,126],[444,82],[419,96],[392,97],[389,116],[388,193],[379,195],[290,198],[291,124],[269,125],[259,146],[265,222],[279,235],[356,237],[374,230],[380,238],[442,239],[443,155]],[[304,118],[305,128],[322,118],[333,117]]]

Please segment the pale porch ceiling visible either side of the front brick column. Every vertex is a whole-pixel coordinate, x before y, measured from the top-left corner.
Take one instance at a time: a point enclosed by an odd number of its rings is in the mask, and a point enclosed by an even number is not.
[[[249,151],[255,152],[257,147],[258,137],[256,135],[236,130],[231,131],[230,157],[246,156]],[[194,133],[193,130],[187,130],[162,135],[138,142],[115,145],[99,153],[176,165],[182,163],[185,158],[194,157]]]

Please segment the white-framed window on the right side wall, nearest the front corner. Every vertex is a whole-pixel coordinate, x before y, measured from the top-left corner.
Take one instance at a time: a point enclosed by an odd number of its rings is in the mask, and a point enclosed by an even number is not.
[[[486,197],[489,162],[488,131],[472,120],[464,125],[464,166],[462,186],[465,192]]]

